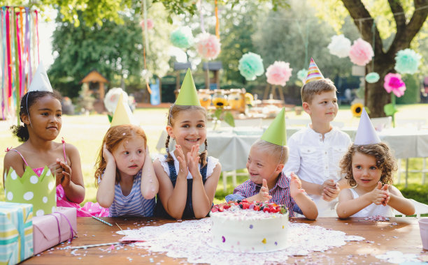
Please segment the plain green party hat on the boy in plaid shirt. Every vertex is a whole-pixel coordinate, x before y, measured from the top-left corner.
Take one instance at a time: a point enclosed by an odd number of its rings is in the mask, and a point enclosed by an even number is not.
[[[262,135],[262,140],[279,146],[287,145],[287,130],[285,130],[285,108],[272,121]]]

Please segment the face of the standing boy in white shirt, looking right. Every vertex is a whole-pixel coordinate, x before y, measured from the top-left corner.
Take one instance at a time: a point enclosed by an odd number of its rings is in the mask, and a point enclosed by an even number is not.
[[[312,102],[304,103],[305,111],[311,116],[312,122],[329,123],[338,112],[336,91],[324,91],[316,94]]]

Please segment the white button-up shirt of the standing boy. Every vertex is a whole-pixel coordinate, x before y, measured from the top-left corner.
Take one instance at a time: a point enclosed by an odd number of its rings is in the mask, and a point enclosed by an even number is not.
[[[322,139],[322,134],[308,125],[288,139],[290,156],[283,172],[287,176],[294,172],[300,179],[320,185],[327,179],[336,182],[341,179],[339,162],[350,144],[349,135],[338,128],[332,128]],[[326,202],[320,195],[309,196],[317,204],[318,216],[337,216],[334,210],[337,198]]]

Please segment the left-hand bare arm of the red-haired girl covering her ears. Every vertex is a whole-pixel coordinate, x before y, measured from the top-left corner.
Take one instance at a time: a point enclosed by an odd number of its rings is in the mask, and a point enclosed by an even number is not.
[[[103,158],[106,160],[106,170],[98,185],[97,202],[99,206],[108,208],[115,199],[116,160],[108,151],[106,144],[103,146]]]

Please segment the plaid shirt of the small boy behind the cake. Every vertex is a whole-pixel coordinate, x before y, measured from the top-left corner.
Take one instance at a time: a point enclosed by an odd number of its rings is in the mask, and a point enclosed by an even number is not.
[[[262,188],[262,185],[258,185],[251,180],[245,181],[234,189],[233,195],[227,195],[226,200],[229,202],[230,200],[245,199],[257,195],[257,193],[260,191],[260,188]],[[275,186],[269,190],[269,195],[272,196],[269,202],[284,204],[290,212],[290,217],[294,217],[294,212],[303,214],[299,206],[297,206],[296,202],[294,202],[294,199],[290,195],[290,178],[285,176],[283,172],[281,172],[278,176],[278,181],[276,181]]]

